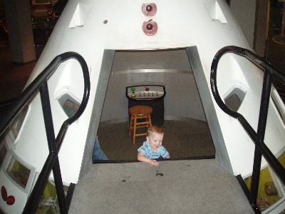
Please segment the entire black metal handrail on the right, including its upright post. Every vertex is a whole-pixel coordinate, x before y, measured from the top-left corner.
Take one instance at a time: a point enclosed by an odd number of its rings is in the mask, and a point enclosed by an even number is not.
[[[257,132],[254,131],[254,128],[250,126],[247,120],[242,116],[242,114],[237,111],[232,111],[232,109],[228,108],[225,103],[222,101],[221,96],[219,96],[219,92],[217,89],[217,65],[219,63],[219,59],[227,53],[237,54],[239,56],[243,56],[247,58],[249,61],[259,66],[259,68],[264,69],[264,83],[261,93],[261,106],[259,111],[259,123]],[[257,191],[259,185],[259,173],[261,166],[261,156],[264,156],[266,161],[271,165],[271,168],[275,171],[275,173],[279,176],[281,181],[285,184],[285,170],[284,167],[279,163],[277,158],[271,153],[270,149],[264,143],[264,133],[266,128],[266,119],[269,108],[269,98],[271,91],[271,77],[275,76],[278,81],[285,85],[285,75],[281,73],[277,68],[272,66],[270,63],[264,61],[263,58],[260,58],[256,54],[252,53],[247,49],[242,49],[237,46],[226,46],[220,49],[217,54],[214,56],[211,66],[211,74],[210,74],[210,84],[212,89],[212,94],[214,96],[215,101],[217,102],[219,108],[222,109],[229,116],[237,118],[239,123],[241,123],[244,130],[247,132],[252,141],[255,143],[255,152],[254,152],[254,165],[252,170],[252,188],[250,192],[249,203],[251,203],[254,209],[257,208]]]

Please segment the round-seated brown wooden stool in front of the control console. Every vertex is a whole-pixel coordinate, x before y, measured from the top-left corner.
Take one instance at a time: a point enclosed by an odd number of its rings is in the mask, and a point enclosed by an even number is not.
[[[133,144],[135,144],[135,137],[146,136],[147,133],[137,133],[138,128],[149,128],[152,126],[150,114],[152,108],[150,106],[133,106],[129,108],[130,113],[130,131],[129,136],[133,132]],[[139,119],[139,121],[138,121]]]

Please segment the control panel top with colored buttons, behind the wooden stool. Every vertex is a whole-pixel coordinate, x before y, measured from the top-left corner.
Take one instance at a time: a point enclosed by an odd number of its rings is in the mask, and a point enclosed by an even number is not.
[[[128,86],[126,96],[133,100],[155,100],[165,97],[165,86],[141,85]]]

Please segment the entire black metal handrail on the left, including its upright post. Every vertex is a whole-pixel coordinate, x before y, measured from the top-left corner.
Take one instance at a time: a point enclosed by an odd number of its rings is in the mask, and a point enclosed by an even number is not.
[[[56,68],[58,68],[61,63],[71,58],[76,59],[80,63],[83,70],[83,98],[78,111],[73,116],[71,116],[71,118],[68,118],[63,122],[63,125],[58,132],[58,136],[55,138],[53,131],[53,120],[51,115],[51,103],[48,95],[47,79],[56,71]],[[19,96],[19,98],[16,98],[14,103],[11,105],[10,111],[7,113],[6,118],[3,121],[0,121],[0,135],[5,131],[6,127],[9,126],[9,123],[11,123],[13,118],[17,115],[17,113],[19,113],[19,111],[21,111],[21,108],[28,102],[31,96],[33,96],[33,94],[38,91],[38,89],[41,93],[41,103],[43,108],[43,118],[46,126],[49,154],[46,158],[46,162],[43,165],[41,173],[38,175],[38,179],[36,180],[36,184],[34,185],[31,195],[28,197],[23,213],[36,212],[38,203],[41,200],[41,195],[43,194],[43,190],[51,173],[51,169],[53,170],[54,180],[56,183],[56,193],[58,195],[59,208],[61,210],[61,213],[68,213],[68,206],[66,205],[66,198],[63,192],[61,169],[59,167],[58,161],[58,151],[61,148],[63,138],[66,135],[66,131],[68,130],[68,126],[82,115],[88,103],[90,96],[90,77],[86,61],[81,55],[75,52],[66,52],[64,54],[56,56],[56,58],[54,58],[53,61],[49,63],[43,72],[41,72],[33,80],[33,82],[23,91],[23,93],[21,93],[21,96]]]

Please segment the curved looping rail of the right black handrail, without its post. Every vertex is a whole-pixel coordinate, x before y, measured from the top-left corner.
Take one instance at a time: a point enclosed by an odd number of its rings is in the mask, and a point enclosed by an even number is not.
[[[269,148],[265,145],[264,141],[260,141],[259,138],[257,138],[256,131],[254,131],[254,128],[250,126],[250,124],[247,122],[244,116],[228,108],[222,101],[222,98],[219,96],[219,91],[217,89],[217,65],[219,63],[219,59],[224,54],[227,54],[227,53],[237,54],[239,56],[243,56],[249,59],[249,61],[252,61],[254,64],[259,66],[260,68],[264,68],[265,72],[269,72],[271,73],[271,75],[276,76],[276,78],[284,85],[285,85],[285,74],[278,71],[278,69],[276,69],[270,63],[263,61],[262,58],[252,53],[252,51],[249,51],[247,49],[242,49],[241,47],[237,47],[237,46],[226,46],[220,49],[217,52],[217,54],[214,56],[214,59],[212,61],[212,66],[211,66],[211,73],[210,73],[210,84],[211,84],[212,94],[219,108],[221,108],[222,111],[224,111],[224,113],[227,113],[229,116],[237,118],[239,123],[241,123],[242,127],[244,127],[244,130],[248,133],[249,137],[252,138],[252,141],[254,141],[255,145],[259,148],[264,158],[266,158],[266,161],[268,161],[268,163],[274,169],[276,174],[279,175],[279,178],[285,184],[284,167],[281,165],[281,163],[279,163],[279,161],[277,161],[276,157],[274,156],[273,153],[271,153]]]

